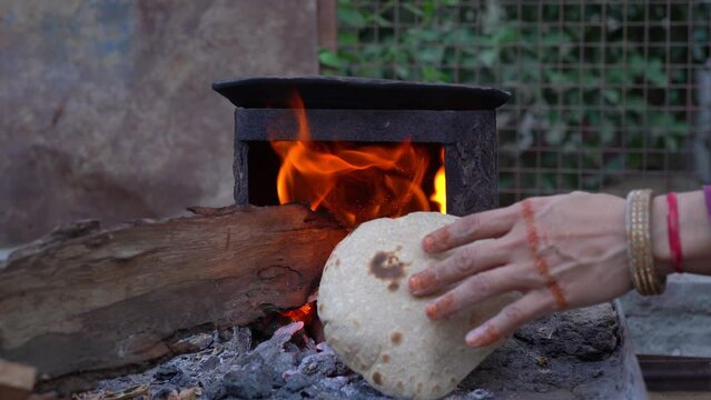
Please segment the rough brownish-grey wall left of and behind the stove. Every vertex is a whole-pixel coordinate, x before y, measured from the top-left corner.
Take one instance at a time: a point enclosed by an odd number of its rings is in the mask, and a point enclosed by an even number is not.
[[[214,80],[317,72],[316,0],[0,0],[0,247],[231,203]]]

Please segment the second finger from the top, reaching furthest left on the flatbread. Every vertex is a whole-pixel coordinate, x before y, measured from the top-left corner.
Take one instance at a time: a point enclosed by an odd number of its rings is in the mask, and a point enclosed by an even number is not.
[[[501,240],[475,241],[413,274],[408,280],[409,291],[415,296],[432,294],[466,277],[503,266],[507,261],[508,251]]]

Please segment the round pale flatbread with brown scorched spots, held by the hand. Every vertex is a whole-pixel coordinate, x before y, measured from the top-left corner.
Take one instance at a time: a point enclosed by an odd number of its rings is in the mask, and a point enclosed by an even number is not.
[[[435,260],[422,251],[423,237],[455,220],[436,212],[372,220],[340,241],[326,262],[318,294],[326,342],[385,394],[441,398],[504,342],[474,349],[464,338],[513,296],[431,321],[425,304],[432,297],[408,292],[409,276]]]

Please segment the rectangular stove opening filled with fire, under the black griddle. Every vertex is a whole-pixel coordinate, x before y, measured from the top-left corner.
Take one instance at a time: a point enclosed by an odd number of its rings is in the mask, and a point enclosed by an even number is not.
[[[413,211],[446,212],[438,143],[250,141],[249,203],[302,202],[344,226]]]

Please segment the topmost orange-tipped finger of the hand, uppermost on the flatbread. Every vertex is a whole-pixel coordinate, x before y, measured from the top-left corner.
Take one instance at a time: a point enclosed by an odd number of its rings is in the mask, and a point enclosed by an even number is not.
[[[473,213],[427,234],[422,247],[426,252],[443,252],[478,239],[491,239],[508,232],[520,217],[520,206]]]

